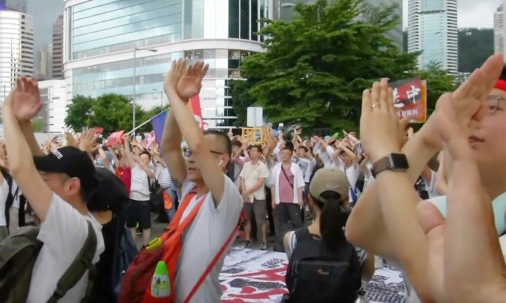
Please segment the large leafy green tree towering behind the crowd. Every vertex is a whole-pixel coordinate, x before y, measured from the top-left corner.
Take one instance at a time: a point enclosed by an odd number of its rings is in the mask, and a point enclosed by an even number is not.
[[[236,113],[254,104],[274,124],[356,129],[365,87],[414,75],[417,54],[402,53],[385,36],[400,22],[394,9],[319,0],[298,5],[289,23],[266,21],[266,52],[246,58],[241,72],[248,80],[231,85]]]

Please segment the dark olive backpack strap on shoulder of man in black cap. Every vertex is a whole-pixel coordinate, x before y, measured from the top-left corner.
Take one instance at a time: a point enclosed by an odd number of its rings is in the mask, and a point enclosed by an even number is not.
[[[88,302],[90,300],[93,282],[97,275],[96,268],[92,263],[97,250],[97,235],[93,230],[92,223],[88,220],[86,220],[86,222],[88,223],[88,236],[86,237],[85,244],[82,245],[81,250],[79,250],[72,264],[70,264],[60,280],[58,280],[56,290],[48,300],[48,303],[58,302],[59,299],[65,296],[67,291],[79,282],[87,270],[89,271],[88,285],[86,286],[85,296],[82,298],[81,302]]]

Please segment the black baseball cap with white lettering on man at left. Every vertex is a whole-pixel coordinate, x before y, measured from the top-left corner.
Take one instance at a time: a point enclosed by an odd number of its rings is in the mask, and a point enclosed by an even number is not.
[[[39,171],[63,173],[71,178],[78,178],[84,192],[89,193],[97,187],[95,165],[92,159],[76,147],[65,146],[53,149],[49,155],[34,156],[33,162]]]

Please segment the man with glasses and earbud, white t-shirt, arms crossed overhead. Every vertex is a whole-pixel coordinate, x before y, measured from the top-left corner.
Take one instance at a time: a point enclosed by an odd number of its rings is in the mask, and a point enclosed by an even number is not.
[[[183,302],[188,297],[206,268],[219,254],[235,230],[243,206],[239,190],[225,175],[231,159],[230,138],[219,131],[202,134],[187,107],[189,98],[199,93],[208,66],[196,63],[185,74],[185,64],[186,60],[173,62],[171,72],[165,79],[164,89],[171,100],[171,110],[165,121],[161,147],[173,185],[180,191],[178,196],[181,201],[190,191],[197,192],[180,222],[188,217],[201,197],[204,200],[197,216],[183,234],[174,287],[176,302]],[[183,137],[188,144],[185,150],[189,156],[188,166],[179,145]],[[222,289],[218,277],[224,258],[222,254],[191,302],[220,301]]]

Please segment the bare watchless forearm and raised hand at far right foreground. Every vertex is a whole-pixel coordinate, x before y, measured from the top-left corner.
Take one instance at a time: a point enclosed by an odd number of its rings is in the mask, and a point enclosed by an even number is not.
[[[418,206],[418,220],[429,245],[431,291],[437,302],[501,301],[506,297],[506,265],[490,197],[482,187],[467,126],[457,119],[460,113],[451,94],[443,101],[435,126],[452,160],[446,220],[432,204]],[[476,260],[480,260],[478,267]]]

